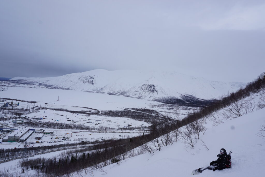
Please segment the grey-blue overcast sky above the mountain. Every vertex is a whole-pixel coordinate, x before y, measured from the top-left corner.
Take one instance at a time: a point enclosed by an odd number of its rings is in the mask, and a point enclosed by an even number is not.
[[[265,1],[0,1],[0,77],[169,70],[249,82],[265,71]]]

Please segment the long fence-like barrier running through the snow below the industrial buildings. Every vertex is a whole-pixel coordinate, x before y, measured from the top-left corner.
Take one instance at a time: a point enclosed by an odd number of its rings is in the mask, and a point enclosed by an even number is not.
[[[16,160],[16,159],[23,159],[23,158],[28,158],[28,157],[34,157],[34,156],[37,156],[37,155],[40,155],[40,154],[46,154],[46,153],[50,153],[50,152],[56,152],[56,151],[59,151],[59,150],[86,148],[87,146],[91,146],[91,145],[71,146],[71,147],[67,147],[67,148],[59,148],[59,149],[46,150],[46,151],[43,151],[43,152],[36,152],[36,153],[30,154],[30,155],[17,156],[17,157],[12,157],[12,158],[9,158],[9,159],[1,160],[0,163],[9,162],[9,161]]]

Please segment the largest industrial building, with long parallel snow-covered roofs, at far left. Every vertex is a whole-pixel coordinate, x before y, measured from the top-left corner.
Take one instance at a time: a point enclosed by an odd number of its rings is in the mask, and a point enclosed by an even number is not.
[[[7,136],[7,139],[3,139],[2,141],[3,142],[24,142],[28,139],[30,135],[32,135],[33,132],[34,130],[30,130],[27,128],[20,128],[10,133]]]

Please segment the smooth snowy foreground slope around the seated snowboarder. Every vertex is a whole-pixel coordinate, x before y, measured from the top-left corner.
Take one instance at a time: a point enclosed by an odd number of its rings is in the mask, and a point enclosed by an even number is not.
[[[232,167],[221,171],[205,170],[199,176],[264,176],[265,139],[256,135],[260,126],[265,124],[264,115],[265,109],[260,109],[209,128],[200,138],[209,150],[200,140],[194,149],[186,148],[178,141],[156,151],[154,155],[146,153],[127,159],[126,162],[122,161],[119,166],[112,164],[104,167],[107,174],[94,171],[94,176],[192,176],[192,170],[208,166],[211,161],[216,160],[221,148],[225,148],[227,152],[232,150]]]

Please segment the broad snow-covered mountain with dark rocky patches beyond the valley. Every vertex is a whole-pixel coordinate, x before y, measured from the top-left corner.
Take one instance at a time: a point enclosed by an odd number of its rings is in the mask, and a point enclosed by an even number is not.
[[[178,72],[92,70],[58,77],[14,77],[10,81],[47,85],[93,93],[107,93],[146,100],[213,99],[244,87],[245,83],[209,81]]]

